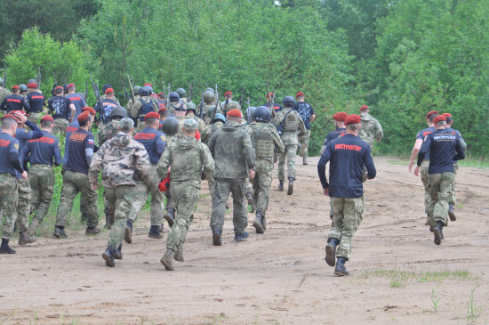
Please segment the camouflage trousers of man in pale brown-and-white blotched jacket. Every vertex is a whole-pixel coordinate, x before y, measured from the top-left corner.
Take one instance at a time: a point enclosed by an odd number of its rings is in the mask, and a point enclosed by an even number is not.
[[[132,208],[133,191],[134,186],[130,185],[105,188],[108,205],[114,211],[114,224],[108,233],[108,246],[112,248],[118,248],[124,240],[125,223]]]

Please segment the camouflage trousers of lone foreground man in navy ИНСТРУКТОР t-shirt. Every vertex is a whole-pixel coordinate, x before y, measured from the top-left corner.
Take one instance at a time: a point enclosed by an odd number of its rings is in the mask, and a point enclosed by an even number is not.
[[[364,218],[364,197],[360,198],[330,198],[333,207],[333,222],[328,239],[340,241],[336,248],[336,256],[351,256],[351,240]]]

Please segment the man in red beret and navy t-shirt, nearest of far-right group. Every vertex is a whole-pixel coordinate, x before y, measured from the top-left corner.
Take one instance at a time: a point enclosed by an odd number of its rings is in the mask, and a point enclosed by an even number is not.
[[[419,175],[421,162],[429,152],[429,230],[435,234],[435,244],[440,245],[444,239],[442,230],[446,225],[448,204],[455,181],[453,160],[465,158],[465,151],[459,138],[449,130],[445,130],[445,116],[438,115],[433,120],[433,124],[435,131],[428,134],[421,145],[414,175]]]

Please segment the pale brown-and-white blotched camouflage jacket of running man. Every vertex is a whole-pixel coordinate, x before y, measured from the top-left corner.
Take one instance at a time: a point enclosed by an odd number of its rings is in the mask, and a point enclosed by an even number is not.
[[[146,181],[149,172],[148,152],[131,135],[119,132],[105,142],[92,159],[88,170],[90,183],[97,183],[100,168],[102,184],[108,188],[119,185],[135,185]]]

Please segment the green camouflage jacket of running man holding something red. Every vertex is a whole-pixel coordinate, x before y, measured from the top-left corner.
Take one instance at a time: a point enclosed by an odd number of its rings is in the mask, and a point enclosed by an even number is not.
[[[200,189],[202,173],[205,178],[212,176],[214,160],[204,143],[196,141],[194,137],[184,136],[170,143],[161,155],[156,167],[160,178],[166,178],[168,167],[172,167],[171,183],[188,183]]]

